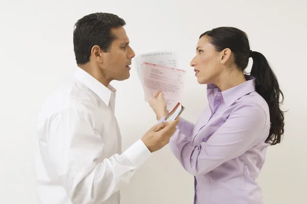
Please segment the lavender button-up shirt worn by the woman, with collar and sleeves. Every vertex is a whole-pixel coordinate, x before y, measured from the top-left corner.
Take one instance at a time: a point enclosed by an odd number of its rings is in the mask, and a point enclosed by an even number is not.
[[[255,78],[246,78],[226,91],[207,85],[208,106],[197,123],[180,118],[170,139],[172,153],[195,178],[195,204],[264,203],[255,180],[268,148],[270,113]]]

